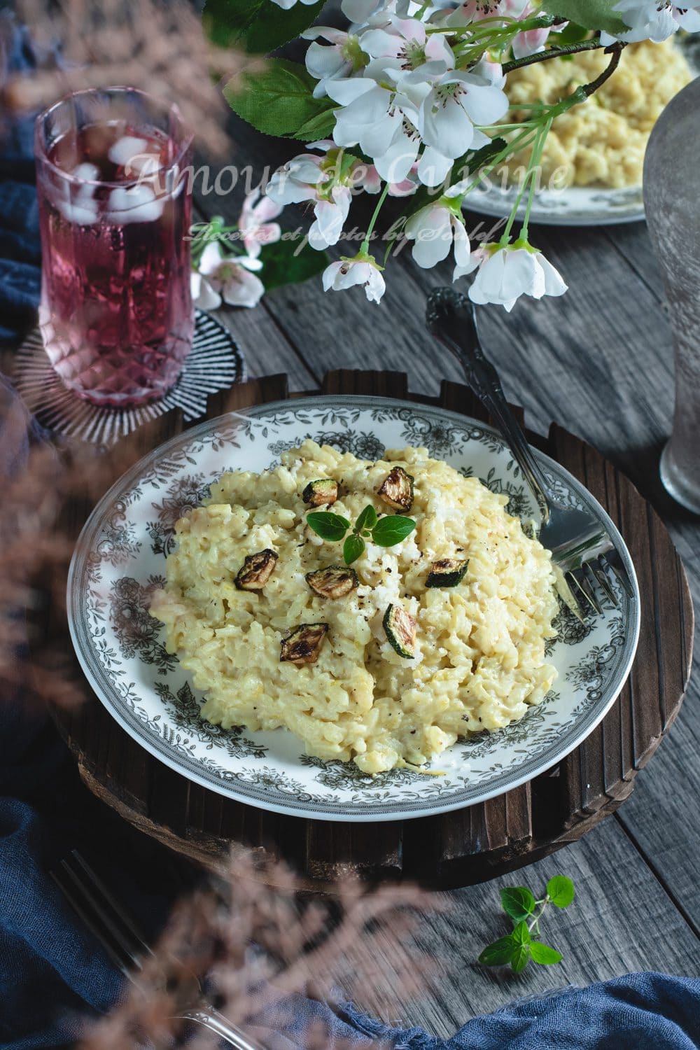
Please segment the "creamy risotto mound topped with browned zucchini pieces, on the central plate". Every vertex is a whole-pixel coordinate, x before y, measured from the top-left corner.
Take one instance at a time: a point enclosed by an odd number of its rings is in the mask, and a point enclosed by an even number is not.
[[[425,448],[385,455],[370,463],[307,440],[275,469],[224,475],[177,522],[151,611],[205,693],[204,718],[287,727],[309,754],[374,774],[421,765],[542,701],[555,673],[549,552],[475,478]],[[380,495],[389,475],[412,478],[400,507]],[[391,547],[367,540],[347,568],[342,543],[306,514],[354,522],[367,504],[416,528]]]

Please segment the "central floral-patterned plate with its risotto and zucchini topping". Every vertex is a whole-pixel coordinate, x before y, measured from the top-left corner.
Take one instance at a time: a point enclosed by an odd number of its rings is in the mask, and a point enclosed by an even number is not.
[[[561,500],[593,497],[539,453]],[[222,795],[322,820],[470,805],[600,721],[639,597],[582,623],[497,433],[311,397],[210,420],[132,467],[78,542],[68,616],[123,728]]]

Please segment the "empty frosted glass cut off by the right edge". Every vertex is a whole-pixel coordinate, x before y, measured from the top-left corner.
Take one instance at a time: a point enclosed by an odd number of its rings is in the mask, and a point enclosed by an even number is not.
[[[700,80],[666,106],[644,158],[644,208],[671,308],[676,359],[673,433],[663,486],[700,513]]]

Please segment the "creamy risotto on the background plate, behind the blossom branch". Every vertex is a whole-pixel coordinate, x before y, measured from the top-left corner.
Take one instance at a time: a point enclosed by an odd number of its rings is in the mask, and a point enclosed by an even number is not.
[[[538,62],[508,75],[511,103],[557,102],[602,72],[610,61],[601,50],[570,61]],[[693,75],[678,47],[642,41],[625,47],[613,76],[586,102],[557,117],[543,155],[543,183],[557,171],[555,187],[641,184],[646,142],[663,107]],[[509,159],[511,177],[528,152]],[[558,170],[557,170],[558,169]]]

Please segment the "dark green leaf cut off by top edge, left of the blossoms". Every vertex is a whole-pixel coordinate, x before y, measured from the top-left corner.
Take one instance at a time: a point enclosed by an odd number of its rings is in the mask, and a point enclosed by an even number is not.
[[[201,23],[209,39],[221,47],[240,47],[269,55],[294,40],[321,13],[323,0],[282,10],[273,0],[207,0]]]

